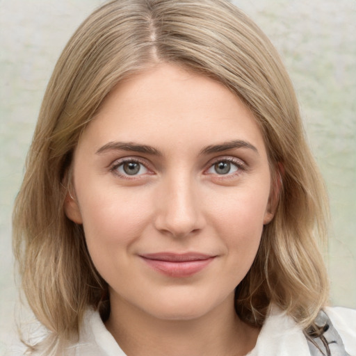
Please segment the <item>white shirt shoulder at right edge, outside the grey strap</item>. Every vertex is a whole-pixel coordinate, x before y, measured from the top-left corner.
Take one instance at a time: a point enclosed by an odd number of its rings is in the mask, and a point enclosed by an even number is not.
[[[324,312],[339,333],[346,352],[356,356],[356,309],[325,307]]]

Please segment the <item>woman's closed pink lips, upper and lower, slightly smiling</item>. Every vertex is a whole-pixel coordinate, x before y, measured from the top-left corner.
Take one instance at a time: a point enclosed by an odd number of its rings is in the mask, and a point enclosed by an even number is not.
[[[164,275],[189,277],[207,267],[216,256],[200,252],[158,252],[140,254],[140,257],[148,266]]]

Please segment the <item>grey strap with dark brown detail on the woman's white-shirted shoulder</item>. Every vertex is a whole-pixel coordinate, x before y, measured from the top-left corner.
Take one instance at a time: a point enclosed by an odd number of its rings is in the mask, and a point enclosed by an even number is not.
[[[305,331],[311,356],[350,356],[330,318],[321,310]]]

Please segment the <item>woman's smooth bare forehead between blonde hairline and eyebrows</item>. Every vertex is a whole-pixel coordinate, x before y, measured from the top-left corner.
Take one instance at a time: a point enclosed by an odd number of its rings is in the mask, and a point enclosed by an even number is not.
[[[264,149],[254,115],[240,98],[217,81],[168,64],[121,81],[83,136],[97,148],[117,140],[191,149],[248,140]]]

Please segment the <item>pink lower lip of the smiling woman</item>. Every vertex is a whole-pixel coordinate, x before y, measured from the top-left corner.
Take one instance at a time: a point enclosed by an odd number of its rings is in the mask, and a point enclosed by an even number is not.
[[[170,277],[189,277],[195,275],[195,273],[200,272],[205,267],[207,267],[214,257],[209,259],[198,259],[195,261],[162,261],[159,259],[147,259],[142,257],[143,260],[163,275],[168,275]]]

